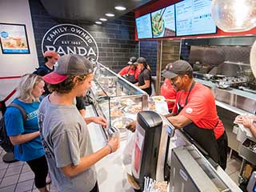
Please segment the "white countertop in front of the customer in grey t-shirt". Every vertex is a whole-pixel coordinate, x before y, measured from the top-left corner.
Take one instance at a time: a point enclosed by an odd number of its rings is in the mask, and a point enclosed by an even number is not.
[[[86,106],[86,116],[96,116],[92,106]],[[88,129],[94,152],[101,149],[103,146],[106,146],[106,138],[100,126],[91,122],[88,125]],[[100,192],[134,191],[127,181],[126,169],[122,163],[122,154],[125,147],[126,140],[122,140],[120,142],[120,148],[116,152],[107,155],[96,163],[95,168]]]

